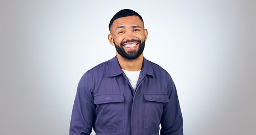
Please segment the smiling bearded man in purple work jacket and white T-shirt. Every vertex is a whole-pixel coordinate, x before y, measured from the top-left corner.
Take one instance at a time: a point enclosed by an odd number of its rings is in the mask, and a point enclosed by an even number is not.
[[[176,87],[170,75],[143,57],[142,17],[121,10],[109,24],[116,56],[88,70],[78,84],[70,134],[183,134]]]

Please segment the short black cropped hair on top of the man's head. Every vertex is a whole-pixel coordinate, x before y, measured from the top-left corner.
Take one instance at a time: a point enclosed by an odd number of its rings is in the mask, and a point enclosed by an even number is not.
[[[143,22],[144,24],[144,21],[141,17],[141,15],[139,15],[137,12],[133,11],[133,10],[130,10],[130,9],[123,9],[123,10],[120,10],[119,12],[117,12],[113,17],[112,19],[110,20],[109,22],[109,31],[110,31],[110,27],[111,25],[113,24],[113,22],[116,20],[116,19],[119,19],[121,17],[127,17],[127,16],[138,16],[140,17],[141,21]]]

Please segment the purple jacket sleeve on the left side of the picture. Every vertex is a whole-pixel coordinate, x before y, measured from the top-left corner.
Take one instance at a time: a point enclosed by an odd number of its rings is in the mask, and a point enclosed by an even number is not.
[[[95,122],[95,104],[88,72],[78,83],[70,122],[70,135],[89,135]]]

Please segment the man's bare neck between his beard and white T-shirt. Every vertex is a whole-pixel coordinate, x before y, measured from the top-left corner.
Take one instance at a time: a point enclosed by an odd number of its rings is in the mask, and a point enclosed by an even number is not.
[[[141,55],[134,60],[127,60],[124,57],[120,56],[118,52],[116,52],[116,57],[118,58],[121,69],[123,70],[139,71],[142,68],[143,53],[141,53]]]

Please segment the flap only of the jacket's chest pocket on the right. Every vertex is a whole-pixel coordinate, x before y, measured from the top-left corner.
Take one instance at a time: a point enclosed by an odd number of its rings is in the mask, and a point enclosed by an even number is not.
[[[147,101],[153,101],[153,102],[169,102],[169,98],[167,94],[164,93],[143,93],[144,98]]]

